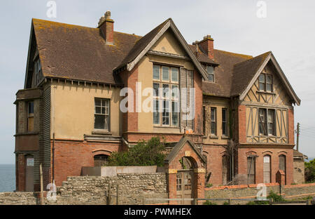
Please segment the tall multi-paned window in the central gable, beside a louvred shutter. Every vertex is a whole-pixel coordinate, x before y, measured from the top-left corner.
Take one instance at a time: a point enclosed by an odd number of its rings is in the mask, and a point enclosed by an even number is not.
[[[153,65],[153,124],[179,126],[179,68]]]

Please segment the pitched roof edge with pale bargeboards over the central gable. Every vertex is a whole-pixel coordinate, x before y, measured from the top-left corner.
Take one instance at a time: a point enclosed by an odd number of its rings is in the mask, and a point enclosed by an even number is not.
[[[181,35],[181,32],[179,32],[179,29],[177,29],[172,18],[165,20],[165,22],[162,22],[162,24],[158,25],[158,27],[155,27],[155,29],[153,29],[151,32],[146,34],[146,36],[143,36],[139,41],[137,41],[137,43],[134,45],[134,48],[132,48],[130,53],[128,53],[127,57],[116,69],[127,66],[127,70],[131,71],[132,68],[135,65],[137,65],[141,58],[144,57],[144,55],[146,55],[150,48],[156,43],[156,41],[158,41],[158,39],[160,39],[160,37],[169,28],[172,29],[172,31],[174,32],[174,36],[179,40],[179,43],[181,44],[181,46],[183,46],[184,50],[186,51],[190,59],[193,61],[197,70],[200,72],[200,74],[202,74],[202,77],[204,77],[204,79],[207,79],[207,72],[202,67],[200,62],[197,60],[194,53],[190,50],[190,47],[188,46],[187,42]]]

